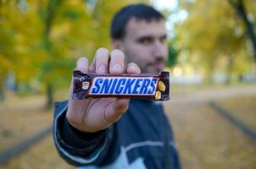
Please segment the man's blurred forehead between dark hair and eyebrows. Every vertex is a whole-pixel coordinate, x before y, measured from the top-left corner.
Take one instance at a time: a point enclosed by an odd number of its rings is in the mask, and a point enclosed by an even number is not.
[[[161,36],[166,34],[164,19],[136,19],[131,18],[125,27],[125,36],[153,35]]]

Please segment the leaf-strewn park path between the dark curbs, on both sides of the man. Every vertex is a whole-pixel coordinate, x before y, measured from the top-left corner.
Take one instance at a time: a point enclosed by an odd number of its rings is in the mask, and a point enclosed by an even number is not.
[[[209,106],[209,101],[256,97],[255,85],[179,89],[164,109],[175,133],[183,168],[256,168],[256,147]],[[0,166],[1,168],[1,166]],[[52,135],[31,146],[4,168],[74,168],[59,156]]]

